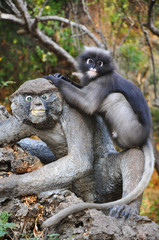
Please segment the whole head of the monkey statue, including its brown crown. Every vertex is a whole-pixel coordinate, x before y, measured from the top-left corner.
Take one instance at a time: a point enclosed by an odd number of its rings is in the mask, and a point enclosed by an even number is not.
[[[35,128],[50,128],[62,112],[57,88],[44,78],[26,81],[10,96],[12,113]]]

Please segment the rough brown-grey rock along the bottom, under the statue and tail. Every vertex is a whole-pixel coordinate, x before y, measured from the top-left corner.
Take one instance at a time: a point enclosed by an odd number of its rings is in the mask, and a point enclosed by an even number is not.
[[[115,219],[96,209],[86,210],[68,216],[55,227],[42,230],[44,220],[61,209],[81,203],[74,193],[67,189],[42,192],[38,196],[12,199],[0,212],[12,213],[10,220],[15,223],[14,236],[19,239],[24,234],[48,239],[51,234],[59,234],[61,240],[158,240],[159,225],[148,218],[138,222]],[[27,237],[31,237],[27,235]],[[58,239],[57,238],[57,239]]]

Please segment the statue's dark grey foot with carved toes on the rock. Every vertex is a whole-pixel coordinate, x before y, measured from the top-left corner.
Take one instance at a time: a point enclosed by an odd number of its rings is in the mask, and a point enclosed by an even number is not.
[[[138,211],[128,205],[117,205],[110,209],[109,216],[115,218],[124,218],[129,220],[139,220],[140,216]]]

